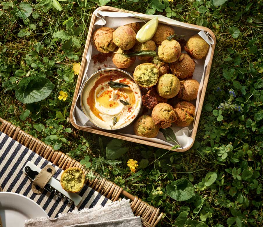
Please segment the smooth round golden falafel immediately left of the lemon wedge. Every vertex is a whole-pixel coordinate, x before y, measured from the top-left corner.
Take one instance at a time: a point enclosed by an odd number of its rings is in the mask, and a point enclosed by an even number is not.
[[[120,26],[113,32],[112,40],[123,50],[131,49],[135,44],[136,33],[128,26]]]

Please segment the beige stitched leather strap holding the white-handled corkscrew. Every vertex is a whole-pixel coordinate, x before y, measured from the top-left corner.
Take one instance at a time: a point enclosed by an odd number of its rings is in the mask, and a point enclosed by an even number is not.
[[[49,169],[49,171],[47,171]],[[51,169],[51,170],[50,170]],[[56,173],[56,170],[51,165],[46,165],[40,173],[38,173],[35,180],[33,180],[32,183],[32,191],[36,194],[40,194],[43,190],[47,182],[50,180],[50,178]],[[36,189],[36,185],[40,187],[40,189]]]

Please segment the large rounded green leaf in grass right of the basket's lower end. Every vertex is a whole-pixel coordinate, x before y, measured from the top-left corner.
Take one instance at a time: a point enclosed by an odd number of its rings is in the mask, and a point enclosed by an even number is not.
[[[184,178],[172,181],[166,186],[166,191],[169,196],[177,201],[185,201],[195,196],[195,189],[192,183]]]

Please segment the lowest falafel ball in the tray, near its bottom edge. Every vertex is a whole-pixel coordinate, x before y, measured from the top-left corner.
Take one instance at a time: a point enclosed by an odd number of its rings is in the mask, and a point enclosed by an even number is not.
[[[142,115],[136,120],[133,130],[137,136],[154,138],[159,132],[159,127],[153,123],[151,116]]]

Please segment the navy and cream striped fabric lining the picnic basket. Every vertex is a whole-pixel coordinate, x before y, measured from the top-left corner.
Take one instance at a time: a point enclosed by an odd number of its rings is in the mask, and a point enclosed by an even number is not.
[[[62,169],[0,132],[0,185],[3,191],[15,192],[31,198],[47,212],[49,217],[54,218],[59,213],[92,208],[98,205],[105,206],[105,204],[111,203],[109,199],[87,185],[79,193],[82,196],[82,201],[78,207],[75,207],[74,204],[71,206],[66,205],[66,203],[57,199],[54,194],[50,194],[45,190],[41,194],[33,193],[31,181],[22,171],[27,161],[34,163],[41,169],[46,165],[54,166],[56,169],[54,177],[57,179],[60,179],[63,173]]]

